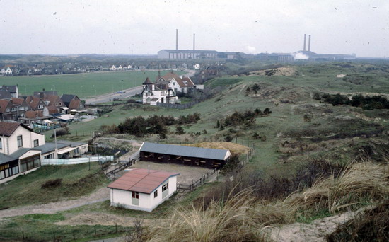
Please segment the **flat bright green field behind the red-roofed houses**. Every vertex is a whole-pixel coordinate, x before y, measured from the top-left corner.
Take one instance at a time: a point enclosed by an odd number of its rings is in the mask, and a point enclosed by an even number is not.
[[[168,71],[161,71],[161,75]],[[185,72],[176,71],[178,75]],[[83,74],[63,74],[52,76],[4,76],[0,85],[18,85],[21,95],[32,95],[34,91],[57,91],[58,95],[75,94],[87,98],[103,93],[120,91],[140,86],[146,77],[156,79],[158,71],[103,71]]]

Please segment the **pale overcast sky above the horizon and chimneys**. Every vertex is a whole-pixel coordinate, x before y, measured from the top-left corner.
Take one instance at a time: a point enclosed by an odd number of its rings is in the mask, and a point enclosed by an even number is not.
[[[0,54],[156,54],[158,50],[389,57],[389,1],[0,0]],[[308,37],[307,37],[308,38]]]

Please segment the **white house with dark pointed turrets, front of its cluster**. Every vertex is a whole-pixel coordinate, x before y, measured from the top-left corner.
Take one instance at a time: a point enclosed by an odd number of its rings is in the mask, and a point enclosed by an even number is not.
[[[178,97],[175,95],[175,91],[171,88],[166,88],[166,86],[156,86],[155,83],[152,83],[148,78],[143,83],[144,88],[141,92],[142,103],[157,105],[157,103],[175,103],[178,100]]]

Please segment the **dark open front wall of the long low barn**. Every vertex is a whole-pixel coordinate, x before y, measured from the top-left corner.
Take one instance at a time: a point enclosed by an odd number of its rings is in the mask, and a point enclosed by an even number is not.
[[[140,151],[141,161],[153,161],[158,163],[177,163],[185,166],[201,166],[206,168],[221,168],[226,164],[224,160],[204,159],[190,156],[173,156]]]

